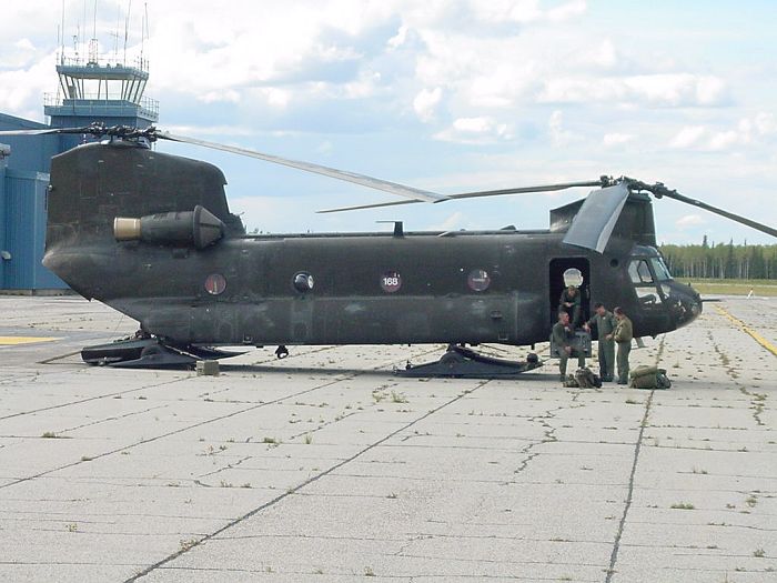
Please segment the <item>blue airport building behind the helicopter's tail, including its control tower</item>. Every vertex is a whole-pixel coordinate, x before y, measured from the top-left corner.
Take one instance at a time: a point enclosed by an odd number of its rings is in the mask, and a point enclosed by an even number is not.
[[[133,66],[62,54],[57,64],[59,90],[44,97],[50,124],[0,113],[0,130],[105,125],[148,128],[159,119],[157,101],[143,97],[148,61]],[[92,139],[79,134],[0,137],[0,289],[64,289],[41,264],[46,243],[46,203],[51,157]]]

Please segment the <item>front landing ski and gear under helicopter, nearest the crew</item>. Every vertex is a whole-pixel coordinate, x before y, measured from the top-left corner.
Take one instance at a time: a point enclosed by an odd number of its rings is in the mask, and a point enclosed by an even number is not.
[[[516,379],[522,372],[542,366],[536,354],[529,353],[526,361],[508,361],[480,354],[472,349],[448,344],[447,351],[437,362],[397,369],[397,376],[454,378],[454,379]]]

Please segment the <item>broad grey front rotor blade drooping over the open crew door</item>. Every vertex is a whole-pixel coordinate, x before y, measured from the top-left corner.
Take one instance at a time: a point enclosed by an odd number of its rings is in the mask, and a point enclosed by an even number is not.
[[[628,188],[623,182],[592,191],[572,220],[564,242],[603,253],[627,198]]]

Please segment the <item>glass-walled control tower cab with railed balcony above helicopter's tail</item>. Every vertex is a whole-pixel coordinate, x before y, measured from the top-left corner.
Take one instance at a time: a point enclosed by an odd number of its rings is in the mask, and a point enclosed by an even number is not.
[[[100,59],[98,41],[92,39],[85,61],[78,54],[67,57],[63,51],[57,74],[59,90],[47,93],[43,104],[52,128],[80,128],[92,122],[148,128],[159,119],[159,103],[143,96],[149,62],[142,56],[133,64],[110,62]],[[78,135],[69,138],[62,151],[79,142]]]

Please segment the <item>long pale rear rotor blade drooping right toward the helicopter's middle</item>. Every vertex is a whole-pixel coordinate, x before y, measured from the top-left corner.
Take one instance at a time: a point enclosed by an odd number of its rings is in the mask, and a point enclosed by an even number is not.
[[[157,138],[161,140],[170,140],[173,142],[191,143],[194,145],[201,145],[203,148],[211,148],[213,150],[222,150],[224,152],[230,152],[240,155],[248,155],[250,158],[258,158],[266,162],[273,162],[275,164],[283,164],[291,168],[296,168],[297,170],[304,170],[305,172],[313,172],[316,174],[323,174],[325,177],[334,178],[336,180],[344,180],[346,182],[353,182],[354,184],[361,184],[371,189],[383,190],[385,192],[391,192],[392,194],[398,194],[401,197],[407,197],[408,199],[426,201],[426,202],[438,202],[445,200],[447,197],[443,194],[437,194],[436,192],[430,192],[427,190],[415,189],[413,187],[406,187],[404,184],[397,184],[396,182],[390,182],[387,180],[381,180],[379,178],[367,177],[364,174],[357,174],[355,172],[347,172],[345,170],[337,170],[335,168],[330,168],[321,164],[314,164],[312,162],[302,162],[300,160],[291,160],[289,158],[281,158],[280,155],[268,154],[263,152],[258,152],[255,150],[248,150],[245,148],[238,148],[234,145],[225,145],[216,142],[206,142],[204,140],[198,140],[196,138],[185,138],[183,135],[173,135],[167,132],[157,133]]]

